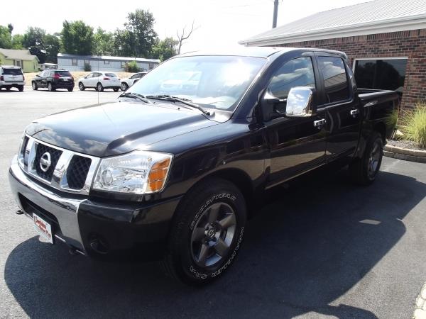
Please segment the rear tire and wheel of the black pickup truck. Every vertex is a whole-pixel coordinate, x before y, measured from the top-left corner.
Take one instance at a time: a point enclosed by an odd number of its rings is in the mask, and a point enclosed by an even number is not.
[[[383,158],[381,134],[373,132],[368,139],[364,154],[349,165],[351,179],[359,185],[367,186],[376,180]]]

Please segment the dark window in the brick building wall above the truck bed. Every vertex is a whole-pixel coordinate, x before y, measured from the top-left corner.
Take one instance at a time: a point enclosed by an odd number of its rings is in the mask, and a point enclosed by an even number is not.
[[[362,89],[393,90],[403,94],[407,58],[355,60],[354,73]]]

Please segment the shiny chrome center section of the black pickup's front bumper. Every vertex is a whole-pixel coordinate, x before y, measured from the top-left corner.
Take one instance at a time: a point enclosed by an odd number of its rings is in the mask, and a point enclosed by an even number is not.
[[[19,194],[55,216],[62,233],[60,240],[84,252],[77,213],[80,203],[85,199],[65,198],[44,189],[22,171],[18,165],[17,156],[13,157],[11,162],[9,184],[18,206],[24,213],[30,214],[23,208]]]

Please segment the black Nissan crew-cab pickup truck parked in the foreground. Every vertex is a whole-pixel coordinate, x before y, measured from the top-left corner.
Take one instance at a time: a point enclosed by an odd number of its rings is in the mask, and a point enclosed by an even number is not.
[[[204,284],[234,261],[267,189],[333,163],[371,184],[397,107],[393,91],[357,89],[342,52],[193,52],[112,103],[28,125],[9,180],[48,242],[141,252]]]

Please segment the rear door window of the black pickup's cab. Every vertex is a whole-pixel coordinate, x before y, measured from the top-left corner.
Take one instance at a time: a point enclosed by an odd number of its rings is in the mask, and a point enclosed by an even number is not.
[[[349,84],[343,60],[340,57],[319,57],[318,62],[324,77],[327,103],[349,99]]]

